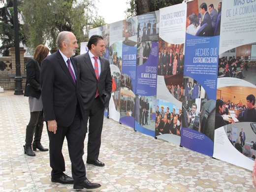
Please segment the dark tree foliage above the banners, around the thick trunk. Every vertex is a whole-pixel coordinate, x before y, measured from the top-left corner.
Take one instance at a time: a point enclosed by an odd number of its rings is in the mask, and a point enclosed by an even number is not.
[[[127,18],[137,16],[138,10],[141,10],[139,7],[143,0],[128,0],[127,4],[129,7],[125,11]],[[171,6],[174,4],[182,3],[183,0],[150,0],[150,12],[157,11],[160,8]]]

